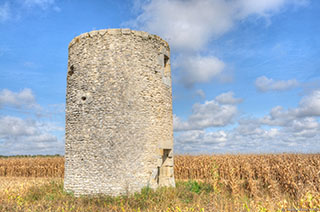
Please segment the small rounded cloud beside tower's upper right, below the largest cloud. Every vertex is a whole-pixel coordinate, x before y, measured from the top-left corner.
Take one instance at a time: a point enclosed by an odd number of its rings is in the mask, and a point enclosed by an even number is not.
[[[194,83],[205,83],[218,76],[225,64],[212,56],[184,56],[178,59],[177,65],[183,70],[182,83],[186,87],[192,87]]]

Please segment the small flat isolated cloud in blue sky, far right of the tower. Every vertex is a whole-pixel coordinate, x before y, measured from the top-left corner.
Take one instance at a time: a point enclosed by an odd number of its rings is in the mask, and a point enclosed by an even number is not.
[[[299,86],[299,83],[295,79],[275,81],[266,76],[261,76],[256,79],[255,86],[261,92],[284,91]]]

